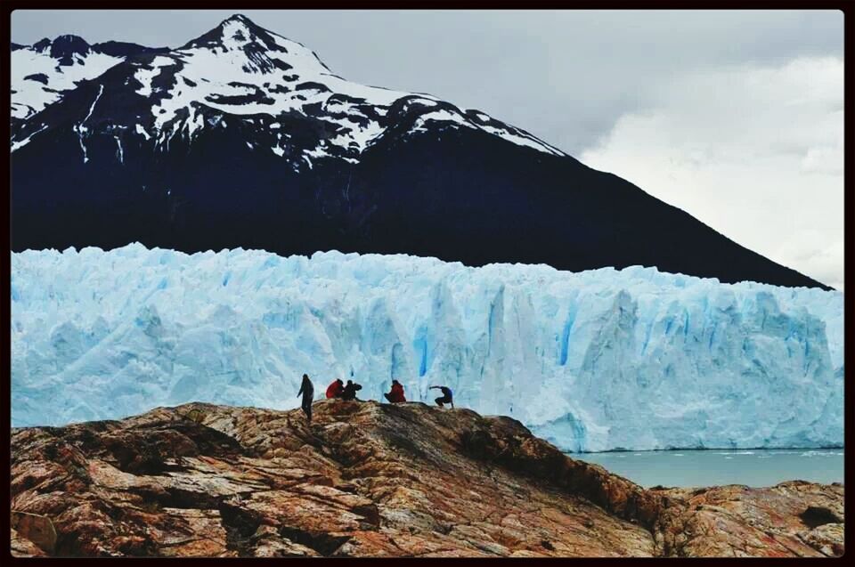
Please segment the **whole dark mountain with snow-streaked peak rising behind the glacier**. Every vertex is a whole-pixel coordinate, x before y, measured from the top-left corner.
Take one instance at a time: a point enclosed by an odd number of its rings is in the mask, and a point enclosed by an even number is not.
[[[171,50],[71,43],[43,83],[12,60],[15,250],[338,249],[821,285],[483,112],[347,81],[244,16]]]

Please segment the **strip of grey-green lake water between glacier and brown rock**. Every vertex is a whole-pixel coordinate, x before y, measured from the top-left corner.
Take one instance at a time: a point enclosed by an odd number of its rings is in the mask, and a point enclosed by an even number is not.
[[[567,453],[645,488],[843,482],[843,449],[656,450]]]

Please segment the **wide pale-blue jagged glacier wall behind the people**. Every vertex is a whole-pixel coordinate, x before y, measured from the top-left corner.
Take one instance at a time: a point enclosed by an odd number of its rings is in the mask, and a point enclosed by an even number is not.
[[[567,451],[843,446],[843,293],[634,266],[140,244],[12,254],[12,425],[186,401],[382,400],[517,418]]]

